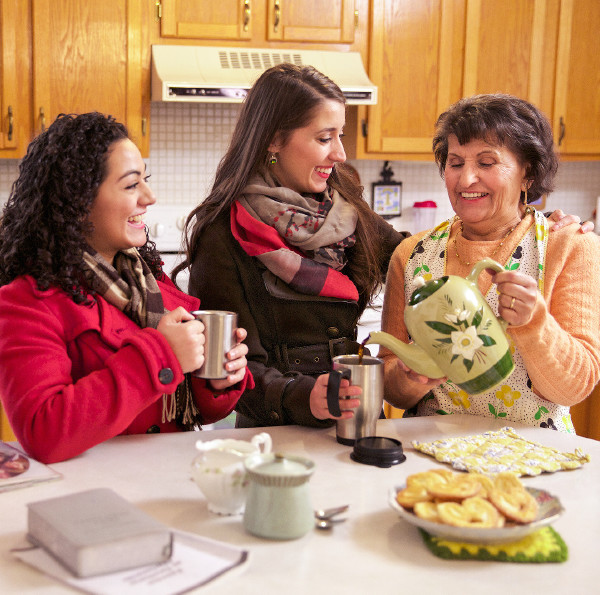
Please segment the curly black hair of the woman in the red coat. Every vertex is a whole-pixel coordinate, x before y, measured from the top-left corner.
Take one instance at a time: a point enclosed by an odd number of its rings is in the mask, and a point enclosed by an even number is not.
[[[0,219],[0,286],[27,274],[42,291],[60,287],[75,303],[89,300],[83,275],[88,216],[108,173],[110,149],[127,138],[115,118],[91,112],[60,114],[30,143]],[[154,243],[147,240],[139,252],[160,277]]]

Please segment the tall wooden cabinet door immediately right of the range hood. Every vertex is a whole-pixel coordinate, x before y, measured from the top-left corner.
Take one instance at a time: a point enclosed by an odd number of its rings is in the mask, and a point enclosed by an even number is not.
[[[439,113],[460,98],[464,0],[381,0],[372,4],[368,153],[431,156]]]

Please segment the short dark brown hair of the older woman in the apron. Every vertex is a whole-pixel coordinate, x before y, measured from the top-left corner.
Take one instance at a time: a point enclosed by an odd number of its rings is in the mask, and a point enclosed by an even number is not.
[[[526,165],[530,182],[527,202],[554,189],[558,156],[552,127],[535,105],[513,95],[495,93],[465,97],[451,105],[437,120],[433,154],[444,177],[448,137],[455,134],[461,145],[473,139],[505,145]],[[525,195],[521,192],[521,201]]]

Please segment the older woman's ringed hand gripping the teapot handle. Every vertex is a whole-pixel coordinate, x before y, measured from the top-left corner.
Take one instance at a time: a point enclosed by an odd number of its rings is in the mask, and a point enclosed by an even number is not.
[[[495,273],[492,282],[496,283],[499,298],[498,312],[508,324],[523,326],[533,316],[533,310],[540,295],[533,277],[517,271]]]

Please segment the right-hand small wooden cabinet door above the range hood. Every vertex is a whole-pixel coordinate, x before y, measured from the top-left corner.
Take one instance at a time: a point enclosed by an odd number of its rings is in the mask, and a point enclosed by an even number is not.
[[[267,40],[353,43],[355,0],[267,0]]]

